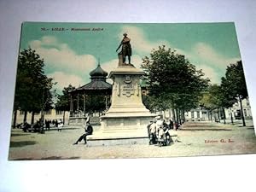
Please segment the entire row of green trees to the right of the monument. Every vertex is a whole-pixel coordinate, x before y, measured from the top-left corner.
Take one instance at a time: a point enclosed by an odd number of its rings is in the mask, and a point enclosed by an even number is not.
[[[184,55],[165,46],[153,49],[149,57],[144,57],[142,67],[148,88],[148,95],[143,96],[144,104],[152,112],[172,108],[172,113],[177,114],[174,116],[177,122],[185,120],[184,112],[192,108],[207,108],[210,113],[217,111],[219,116],[219,110],[224,112],[224,108],[231,108],[235,102],[241,104],[247,97],[241,61],[227,67],[220,85],[211,85],[204,73]],[[245,125],[242,107],[241,119]]]

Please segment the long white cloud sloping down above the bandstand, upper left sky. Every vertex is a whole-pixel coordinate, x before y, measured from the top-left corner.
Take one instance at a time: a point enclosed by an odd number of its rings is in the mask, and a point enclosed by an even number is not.
[[[56,69],[83,73],[96,66],[96,58],[93,55],[78,55],[67,44],[58,42],[55,37],[44,36],[40,40],[30,42],[30,46],[44,58],[45,63]]]

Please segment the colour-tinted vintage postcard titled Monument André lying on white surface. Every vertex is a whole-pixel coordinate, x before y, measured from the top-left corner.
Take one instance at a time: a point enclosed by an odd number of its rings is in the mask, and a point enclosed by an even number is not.
[[[255,152],[235,23],[22,24],[9,160]]]

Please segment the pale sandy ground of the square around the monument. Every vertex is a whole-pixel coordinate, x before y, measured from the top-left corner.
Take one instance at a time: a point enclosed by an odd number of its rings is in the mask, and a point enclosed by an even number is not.
[[[224,125],[212,122],[187,122],[181,130],[172,131],[177,140],[170,146],[148,144],[87,147],[73,145],[84,130],[64,127],[45,134],[13,129],[9,160],[71,160],[104,158],[147,158],[217,154],[256,153],[253,124]]]

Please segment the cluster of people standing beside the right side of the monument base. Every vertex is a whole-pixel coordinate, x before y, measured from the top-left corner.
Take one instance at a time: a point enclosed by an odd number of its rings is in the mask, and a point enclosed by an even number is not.
[[[177,124],[173,123],[172,119],[169,121],[168,125],[165,119],[160,119],[160,116],[150,121],[148,124],[149,145],[158,144],[163,146],[172,142],[169,130],[174,128],[177,130]]]

